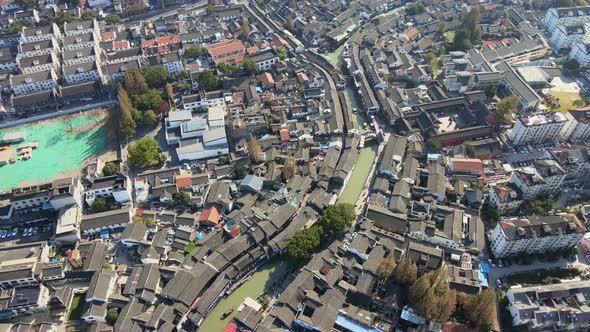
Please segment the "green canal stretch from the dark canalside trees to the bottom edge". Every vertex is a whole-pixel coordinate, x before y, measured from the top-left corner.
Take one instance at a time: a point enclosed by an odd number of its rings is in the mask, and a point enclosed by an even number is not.
[[[223,331],[223,328],[233,319],[237,313],[238,307],[244,302],[246,297],[256,300],[260,295],[264,294],[267,289],[273,287],[278,281],[287,275],[290,268],[291,265],[286,258],[283,257],[274,258],[259,267],[246,282],[217,303],[215,308],[211,310],[209,315],[207,315],[207,318],[203,321],[203,324],[199,327],[199,331]],[[225,319],[221,319],[223,313],[231,308],[236,310]]]

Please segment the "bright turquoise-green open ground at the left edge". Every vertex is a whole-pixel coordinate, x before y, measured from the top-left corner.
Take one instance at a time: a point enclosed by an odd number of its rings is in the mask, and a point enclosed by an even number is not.
[[[104,116],[85,114],[70,119],[71,125],[70,120],[61,119],[0,130],[0,138],[5,133],[23,131],[27,134],[25,143],[39,142],[31,159],[0,167],[0,190],[16,187],[23,180],[51,179],[57,173],[79,168],[86,158],[104,151],[104,127],[76,131],[103,121]],[[70,126],[72,132],[68,132]]]

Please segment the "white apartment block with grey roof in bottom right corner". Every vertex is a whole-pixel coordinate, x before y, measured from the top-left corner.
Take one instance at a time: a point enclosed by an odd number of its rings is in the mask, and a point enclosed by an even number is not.
[[[512,325],[530,331],[588,331],[590,281],[511,288],[506,292]]]

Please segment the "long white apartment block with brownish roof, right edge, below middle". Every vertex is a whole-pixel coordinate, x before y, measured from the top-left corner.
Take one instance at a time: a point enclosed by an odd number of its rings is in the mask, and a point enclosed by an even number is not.
[[[575,246],[585,233],[574,214],[510,218],[494,227],[490,246],[497,258],[555,253]]]

